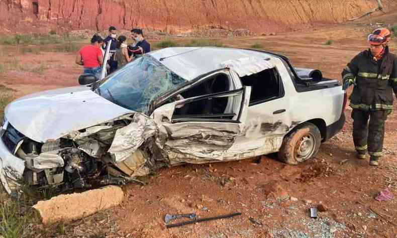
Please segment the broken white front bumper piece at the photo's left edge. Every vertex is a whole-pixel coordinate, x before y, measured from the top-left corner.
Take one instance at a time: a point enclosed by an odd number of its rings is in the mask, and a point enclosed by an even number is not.
[[[19,181],[25,170],[25,161],[14,156],[0,139],[0,181],[6,192],[16,195],[20,187]]]

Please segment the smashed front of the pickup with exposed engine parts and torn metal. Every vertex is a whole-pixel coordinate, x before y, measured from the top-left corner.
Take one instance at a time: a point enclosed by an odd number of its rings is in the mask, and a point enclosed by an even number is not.
[[[151,130],[143,126],[144,130],[139,130],[137,125],[144,122],[141,117],[137,114],[125,115],[119,120],[79,130],[46,143],[24,139],[16,148],[16,155],[26,162],[24,182],[38,188],[57,187],[62,191],[87,188],[93,184],[142,183],[135,177],[148,174],[151,170],[148,167],[152,167],[154,161],[148,161],[147,152],[137,150],[142,143],[134,145],[123,140],[129,133],[147,134],[147,130]],[[134,125],[131,122],[135,122]],[[123,129],[121,133],[119,129]],[[120,149],[132,154],[120,153]],[[148,151],[147,145],[142,145],[141,149]],[[116,158],[123,161],[117,162]]]

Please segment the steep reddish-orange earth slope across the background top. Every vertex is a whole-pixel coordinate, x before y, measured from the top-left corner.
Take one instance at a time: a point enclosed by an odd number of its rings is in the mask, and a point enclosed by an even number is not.
[[[386,11],[397,6],[394,0],[382,3]],[[114,25],[168,33],[211,27],[263,33],[341,23],[376,7],[375,0],[0,0],[0,26],[5,32]]]

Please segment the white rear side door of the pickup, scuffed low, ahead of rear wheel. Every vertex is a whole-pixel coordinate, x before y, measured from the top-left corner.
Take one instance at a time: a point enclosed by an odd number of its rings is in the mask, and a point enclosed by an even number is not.
[[[252,86],[253,93],[251,94],[245,129],[229,150],[231,154],[238,156],[240,159],[278,152],[284,136],[299,124],[299,122],[291,121],[290,98],[285,96],[290,95],[293,90],[290,83],[283,83],[291,80],[288,72],[280,61],[270,60],[270,62],[275,67],[267,70],[274,73],[273,79],[278,85],[278,90],[266,97],[264,89],[270,86],[266,83],[269,78],[259,79],[266,80],[264,84],[259,84],[261,86],[259,89],[255,88],[255,84]],[[244,85],[244,80],[242,80],[242,83]],[[263,98],[255,100],[258,91]]]

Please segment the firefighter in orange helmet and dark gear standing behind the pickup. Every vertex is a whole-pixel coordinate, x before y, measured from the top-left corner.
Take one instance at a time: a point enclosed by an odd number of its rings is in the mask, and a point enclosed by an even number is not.
[[[384,122],[397,96],[397,58],[389,52],[390,31],[379,28],[368,36],[369,49],[356,55],[342,71],[343,89],[350,96],[356,157],[377,166],[383,150]],[[368,125],[369,119],[369,125]]]

